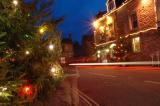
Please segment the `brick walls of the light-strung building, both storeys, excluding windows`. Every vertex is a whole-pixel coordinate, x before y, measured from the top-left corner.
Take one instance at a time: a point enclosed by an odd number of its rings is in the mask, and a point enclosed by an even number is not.
[[[129,1],[129,0],[128,0]],[[159,0],[157,0],[159,2]],[[157,2],[157,3],[158,3]],[[132,0],[122,8],[117,9],[109,16],[113,19],[116,36],[132,35],[133,33],[150,28],[156,28],[157,13],[155,0]],[[157,8],[158,9],[158,8]],[[160,11],[160,10],[157,10]],[[130,16],[136,13],[138,28],[131,29]],[[140,36],[141,52],[128,54],[129,61],[150,61],[151,55],[160,52],[160,32],[153,29],[140,34],[132,35],[132,38]]]

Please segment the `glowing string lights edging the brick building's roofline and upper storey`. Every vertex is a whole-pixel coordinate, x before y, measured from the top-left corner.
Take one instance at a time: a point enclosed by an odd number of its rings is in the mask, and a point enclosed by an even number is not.
[[[111,10],[109,13],[106,13],[106,14],[103,15],[101,18],[95,20],[95,21],[92,23],[93,27],[95,28],[95,31],[94,31],[94,32],[97,32],[98,30],[99,30],[100,32],[104,32],[104,31],[102,31],[102,30],[105,30],[105,28],[104,28],[104,26],[101,26],[101,23],[100,23],[100,22],[101,22],[102,20],[106,19],[106,20],[107,20],[107,21],[106,21],[106,25],[111,24],[111,23],[113,22],[113,19],[112,19],[112,17],[111,17],[110,15],[111,15],[112,13],[116,12],[116,11],[119,11],[121,8],[123,8],[123,7],[126,6],[127,4],[131,3],[132,1],[133,1],[133,0],[125,1],[120,7]],[[150,0],[141,0],[141,3],[142,3],[143,6],[148,6],[148,5],[150,4],[150,2],[151,2]],[[158,17],[157,17],[157,9],[156,9],[156,0],[154,0],[154,11],[155,11],[155,20],[156,20],[156,22],[157,22]],[[151,31],[151,30],[157,30],[157,28],[158,28],[158,24],[155,23],[155,26],[154,26],[154,27],[142,29],[142,30],[139,30],[139,31],[137,31],[137,32],[133,32],[133,33],[127,34],[127,35],[125,35],[125,37],[127,38],[127,37],[129,37],[129,36],[135,36],[135,35],[138,35],[138,34],[140,34],[140,33],[145,33],[145,32]],[[107,30],[107,29],[106,29],[106,30]],[[95,34],[96,34],[96,33],[95,33]],[[112,42],[115,42],[115,41],[116,41],[116,40],[110,41],[110,42],[112,43]],[[102,46],[102,45],[106,45],[106,44],[110,44],[110,43],[106,42],[106,43],[96,44],[96,46],[98,47],[98,46]]]

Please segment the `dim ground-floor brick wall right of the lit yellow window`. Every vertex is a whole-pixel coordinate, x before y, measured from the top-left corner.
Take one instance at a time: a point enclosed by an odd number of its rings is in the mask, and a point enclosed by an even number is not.
[[[160,32],[152,30],[140,35],[141,52],[130,53],[129,61],[151,61],[151,55],[154,56],[154,60],[157,60],[156,53],[160,55]]]

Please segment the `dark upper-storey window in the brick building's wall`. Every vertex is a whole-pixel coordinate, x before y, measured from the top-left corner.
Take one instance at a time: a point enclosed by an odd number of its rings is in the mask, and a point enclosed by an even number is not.
[[[137,14],[136,13],[133,13],[130,16],[130,27],[131,27],[131,30],[138,28],[138,21],[137,21]]]

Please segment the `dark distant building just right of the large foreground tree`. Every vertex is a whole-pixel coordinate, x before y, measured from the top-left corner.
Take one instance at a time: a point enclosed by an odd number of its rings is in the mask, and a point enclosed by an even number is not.
[[[71,35],[68,38],[62,39],[62,56],[65,58],[66,63],[72,61],[74,57],[74,49]]]

